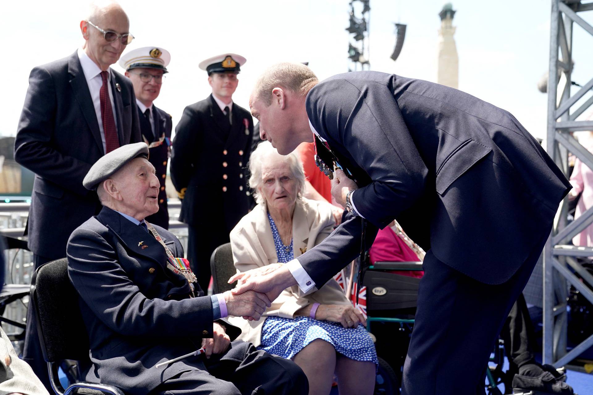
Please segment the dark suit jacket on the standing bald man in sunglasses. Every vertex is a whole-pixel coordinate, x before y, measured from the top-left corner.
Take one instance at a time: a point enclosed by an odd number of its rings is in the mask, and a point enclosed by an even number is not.
[[[132,83],[109,72],[119,143],[141,142]],[[66,256],[70,233],[101,208],[97,194],[86,190],[82,179],[103,155],[78,54],[31,70],[14,143],[14,159],[36,174],[27,221],[31,251],[49,259]]]

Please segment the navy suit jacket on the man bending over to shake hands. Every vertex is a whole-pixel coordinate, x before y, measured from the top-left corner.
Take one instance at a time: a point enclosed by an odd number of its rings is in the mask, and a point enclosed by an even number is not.
[[[511,278],[549,234],[570,190],[513,115],[457,89],[351,72],[314,86],[306,107],[358,181],[353,203],[368,220],[368,246],[377,228],[397,219],[426,251],[486,284]],[[299,257],[315,283],[360,253],[361,224],[346,214]]]

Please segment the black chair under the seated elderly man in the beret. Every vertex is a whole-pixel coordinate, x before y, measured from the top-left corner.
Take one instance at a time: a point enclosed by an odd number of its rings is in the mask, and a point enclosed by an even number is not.
[[[58,366],[65,359],[90,364],[87,328],[78,307],[78,293],[68,277],[68,259],[39,266],[31,279],[29,308],[37,318],[37,333],[53,391],[58,395],[123,395],[119,388],[79,382],[66,390],[58,379]]]

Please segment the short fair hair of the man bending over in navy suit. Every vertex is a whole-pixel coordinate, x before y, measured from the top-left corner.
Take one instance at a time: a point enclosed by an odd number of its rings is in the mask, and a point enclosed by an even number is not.
[[[250,107],[258,100],[266,106],[272,104],[272,89],[278,86],[304,96],[318,82],[315,73],[302,63],[278,63],[264,71],[257,79],[251,92]]]

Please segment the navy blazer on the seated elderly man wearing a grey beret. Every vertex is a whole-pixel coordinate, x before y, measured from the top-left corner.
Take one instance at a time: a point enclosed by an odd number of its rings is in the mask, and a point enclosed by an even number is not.
[[[175,256],[183,256],[177,237],[155,229]],[[202,358],[155,368],[212,337],[211,298],[197,283],[190,298],[187,280],[168,269],[166,259],[152,235],[107,207],[72,233],[68,274],[88,330],[93,367],[87,380],[144,395],[184,370],[204,368]],[[225,326],[231,340],[241,332]]]

